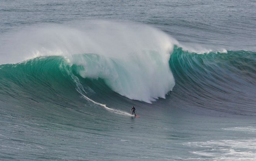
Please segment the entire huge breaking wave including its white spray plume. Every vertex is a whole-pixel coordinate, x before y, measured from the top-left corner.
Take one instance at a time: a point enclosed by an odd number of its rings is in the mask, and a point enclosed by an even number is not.
[[[170,94],[172,100],[195,107],[256,113],[255,52],[192,53],[149,26],[98,21],[79,29],[33,28],[13,39],[15,48],[8,43],[3,47],[9,54],[2,64],[32,59],[0,66],[2,102],[63,104],[78,102],[82,95],[109,109],[94,99],[121,101],[117,93],[152,103]]]

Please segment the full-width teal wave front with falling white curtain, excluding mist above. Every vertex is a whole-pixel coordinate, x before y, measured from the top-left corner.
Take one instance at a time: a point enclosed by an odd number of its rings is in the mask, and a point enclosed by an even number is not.
[[[4,64],[0,66],[1,101],[10,102],[11,97],[13,100],[62,104],[79,102],[81,95],[87,101],[102,102],[104,99],[99,98],[104,95],[113,101],[122,101],[122,97],[115,94],[117,92],[129,99],[151,102],[157,97],[165,97],[174,85],[174,76],[176,85],[170,97],[175,102],[238,115],[256,114],[253,108],[256,105],[255,52],[197,54],[175,46],[168,61],[172,72],[165,71],[156,53],[145,54],[154,60],[150,63],[155,64],[149,65],[154,66],[154,72],[145,69],[147,66],[143,64],[140,70],[132,62],[129,66],[120,59],[97,54],[76,54],[72,59],[45,56]],[[140,64],[138,60],[134,59],[137,65]],[[139,71],[135,70],[137,68]]]

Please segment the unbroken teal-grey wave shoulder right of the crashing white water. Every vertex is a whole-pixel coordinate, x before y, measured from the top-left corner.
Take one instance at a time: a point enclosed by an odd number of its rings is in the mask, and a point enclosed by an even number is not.
[[[211,110],[255,115],[255,52],[197,54],[175,47],[169,63],[176,99]]]

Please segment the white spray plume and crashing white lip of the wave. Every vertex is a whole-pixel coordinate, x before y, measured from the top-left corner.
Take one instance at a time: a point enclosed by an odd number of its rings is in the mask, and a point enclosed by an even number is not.
[[[150,103],[165,98],[175,84],[168,64],[174,43],[147,25],[111,21],[48,25],[11,36],[3,47],[2,63],[64,56],[70,66],[79,66],[80,76],[104,79],[115,92]]]

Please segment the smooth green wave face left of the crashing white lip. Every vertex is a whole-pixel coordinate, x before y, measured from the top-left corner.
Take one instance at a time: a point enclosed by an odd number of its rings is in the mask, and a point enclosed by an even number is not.
[[[18,64],[0,66],[0,94],[3,102],[14,105],[31,102],[74,102],[79,97],[66,72],[64,58],[39,57]],[[62,104],[65,107],[65,104]]]

